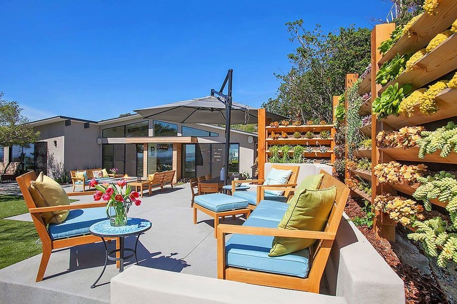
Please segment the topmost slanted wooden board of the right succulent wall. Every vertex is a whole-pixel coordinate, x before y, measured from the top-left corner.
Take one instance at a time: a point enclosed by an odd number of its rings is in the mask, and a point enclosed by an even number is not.
[[[384,54],[379,65],[394,58],[397,54],[415,53],[425,48],[438,33],[449,28],[457,19],[457,2],[455,0],[441,0],[438,6],[440,13],[420,16],[409,29],[410,37],[405,34]]]

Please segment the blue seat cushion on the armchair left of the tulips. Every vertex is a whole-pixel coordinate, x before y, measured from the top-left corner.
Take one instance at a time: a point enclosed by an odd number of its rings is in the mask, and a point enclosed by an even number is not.
[[[60,224],[49,224],[49,236],[55,240],[85,235],[89,233],[91,224],[106,218],[105,207],[70,210],[66,220]]]

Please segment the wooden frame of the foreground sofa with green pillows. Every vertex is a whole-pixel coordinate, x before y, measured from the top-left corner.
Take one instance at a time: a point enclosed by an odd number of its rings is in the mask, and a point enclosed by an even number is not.
[[[296,289],[302,291],[310,291],[310,292],[319,292],[319,285],[320,280],[322,278],[325,264],[327,264],[327,260],[330,255],[330,250],[332,249],[333,242],[335,241],[336,233],[338,230],[338,226],[340,225],[340,221],[342,218],[344,206],[346,205],[346,201],[349,196],[349,188],[337,180],[336,178],[332,177],[329,173],[321,170],[320,173],[324,174],[322,179],[322,183],[319,188],[329,188],[333,185],[336,185],[337,188],[337,195],[335,199],[335,203],[333,208],[330,212],[329,220],[325,225],[324,231],[303,231],[303,230],[286,230],[286,229],[278,229],[278,228],[269,228],[269,227],[258,227],[258,226],[248,226],[248,225],[229,225],[229,224],[219,224],[217,226],[217,277],[219,279],[225,280],[232,280],[250,284],[257,284],[257,285],[265,285],[265,286],[273,286],[279,288],[286,288],[286,289]],[[269,186],[265,187],[266,189],[276,190],[280,187]],[[269,201],[262,201],[260,202],[260,206],[265,204],[264,206],[268,206]],[[275,204],[280,204],[277,202],[273,202]],[[287,207],[285,207],[287,208]],[[270,210],[266,209],[268,212]],[[264,212],[266,211],[264,209]],[[255,214],[258,211],[262,211],[262,208],[258,210],[254,210],[249,219],[255,218]],[[277,212],[271,208],[271,212]],[[285,212],[285,211],[284,211]],[[237,234],[237,235],[250,235],[250,236],[276,236],[276,237],[288,237],[288,238],[303,238],[303,239],[317,239],[318,241],[310,247],[308,250],[307,256],[307,265],[311,265],[308,269],[305,269],[306,275],[303,277],[291,276],[291,275],[284,275],[279,274],[279,271],[276,272],[264,272],[264,271],[257,271],[257,270],[248,270],[243,268],[231,267],[226,264],[226,248],[225,243],[225,235],[226,234]],[[230,242],[234,237],[237,235],[232,236],[228,242]],[[254,237],[255,238],[255,237]],[[267,240],[268,241],[268,240]],[[270,246],[269,242],[268,246]],[[230,245],[229,245],[230,246]],[[233,245],[236,246],[236,245]],[[256,246],[259,246],[256,244]],[[266,245],[267,246],[267,245]],[[251,246],[253,247],[253,246]],[[258,250],[254,247],[251,250]],[[263,248],[266,249],[266,248]],[[260,253],[262,254],[262,253]],[[265,251],[263,252],[265,254]],[[293,255],[293,253],[291,253]],[[288,255],[281,256],[281,260],[287,258]],[[266,263],[267,256],[264,259],[264,263]],[[277,258],[277,257],[275,257]],[[297,258],[297,255],[295,255]],[[295,260],[296,262],[296,260]],[[298,264],[298,263],[296,263]],[[309,267],[309,266],[308,266]],[[290,270],[290,269],[289,269]],[[284,271],[283,273],[287,273]]]

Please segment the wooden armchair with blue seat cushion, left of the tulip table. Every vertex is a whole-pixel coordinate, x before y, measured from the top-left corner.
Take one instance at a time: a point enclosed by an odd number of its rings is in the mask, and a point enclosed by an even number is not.
[[[52,250],[102,241],[100,237],[89,234],[89,226],[106,219],[106,202],[37,207],[29,191],[30,181],[36,179],[37,175],[34,171],[16,178],[43,247],[43,255],[36,279],[37,282],[40,282],[43,280]],[[68,193],[68,196],[92,195],[93,193]],[[59,224],[46,224],[44,222],[41,213],[60,210],[70,210],[66,220]],[[118,248],[119,242],[116,242],[116,249]]]

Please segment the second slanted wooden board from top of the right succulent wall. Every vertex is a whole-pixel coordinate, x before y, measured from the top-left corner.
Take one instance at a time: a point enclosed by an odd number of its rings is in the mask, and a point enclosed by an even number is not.
[[[457,34],[452,34],[432,52],[417,61],[410,71],[404,71],[378,91],[380,96],[385,89],[398,83],[399,86],[412,84],[413,90],[444,76],[457,68]]]

